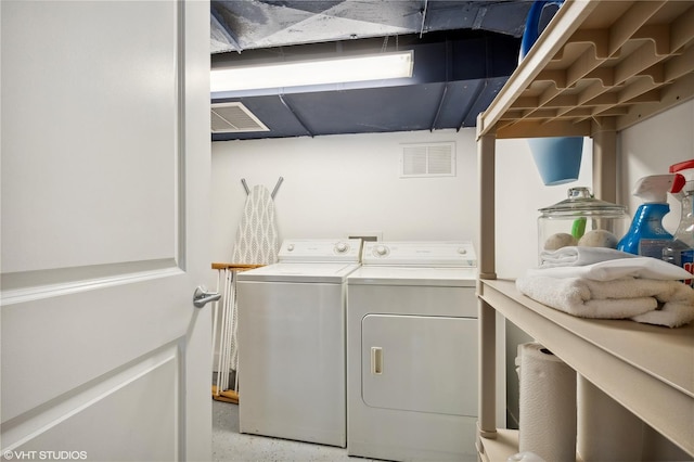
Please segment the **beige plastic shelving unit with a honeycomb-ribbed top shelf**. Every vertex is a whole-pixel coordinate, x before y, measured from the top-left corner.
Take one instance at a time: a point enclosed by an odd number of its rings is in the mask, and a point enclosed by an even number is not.
[[[497,280],[494,149],[504,138],[593,140],[593,191],[616,202],[617,133],[694,98],[694,1],[567,0],[477,123],[481,460],[517,451],[498,431],[494,312],[694,457],[694,326],[587,320]]]

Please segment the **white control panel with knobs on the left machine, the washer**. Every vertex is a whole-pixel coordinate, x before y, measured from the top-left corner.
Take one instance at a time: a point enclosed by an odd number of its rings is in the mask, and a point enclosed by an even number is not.
[[[360,239],[287,239],[278,253],[280,261],[359,262],[360,258]]]

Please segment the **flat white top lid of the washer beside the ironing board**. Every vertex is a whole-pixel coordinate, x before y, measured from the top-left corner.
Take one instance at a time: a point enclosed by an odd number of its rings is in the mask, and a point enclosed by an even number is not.
[[[279,262],[237,273],[239,282],[309,282],[343,283],[347,274],[359,268],[350,262]]]

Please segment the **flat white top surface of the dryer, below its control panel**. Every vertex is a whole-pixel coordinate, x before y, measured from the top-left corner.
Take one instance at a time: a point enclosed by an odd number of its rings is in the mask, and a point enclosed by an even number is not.
[[[477,268],[362,266],[347,277],[349,285],[474,287],[476,283]]]

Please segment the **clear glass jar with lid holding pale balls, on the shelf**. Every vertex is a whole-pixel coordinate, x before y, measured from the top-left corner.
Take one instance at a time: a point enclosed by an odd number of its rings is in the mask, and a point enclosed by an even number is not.
[[[569,245],[616,248],[630,222],[626,206],[600,201],[588,188],[570,188],[568,198],[539,211],[538,253]]]

